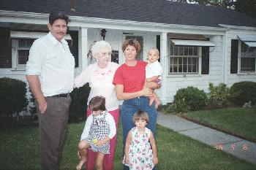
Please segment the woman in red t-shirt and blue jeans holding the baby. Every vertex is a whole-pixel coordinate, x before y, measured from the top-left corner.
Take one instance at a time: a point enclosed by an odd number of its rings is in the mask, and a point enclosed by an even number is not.
[[[117,70],[113,78],[113,85],[116,85],[116,96],[118,100],[124,100],[121,108],[121,121],[123,126],[123,146],[125,146],[127,134],[135,125],[132,117],[135,112],[143,110],[148,113],[149,128],[153,134],[157,125],[157,109],[154,104],[149,106],[148,96],[152,96],[153,91],[145,84],[146,65],[145,61],[137,61],[137,54],[140,53],[140,43],[136,40],[126,40],[122,45],[125,55],[125,63]],[[124,166],[124,169],[129,169]]]

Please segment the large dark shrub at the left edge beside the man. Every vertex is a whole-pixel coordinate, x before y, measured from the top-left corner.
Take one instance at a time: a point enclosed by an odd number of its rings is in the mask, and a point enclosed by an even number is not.
[[[26,82],[11,78],[0,79],[0,115],[12,117],[26,108]]]

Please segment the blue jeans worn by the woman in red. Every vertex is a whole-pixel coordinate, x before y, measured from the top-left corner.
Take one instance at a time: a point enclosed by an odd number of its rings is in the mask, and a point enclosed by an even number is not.
[[[135,123],[132,122],[132,117],[138,110],[143,110],[148,113],[149,123],[146,125],[153,134],[156,133],[157,125],[157,109],[154,108],[154,103],[148,105],[148,97],[140,96],[138,98],[131,98],[129,100],[124,100],[121,108],[121,123],[123,126],[123,156],[124,156],[124,146],[127,139],[129,130],[135,127]],[[128,166],[124,166],[124,170],[128,170]],[[155,168],[154,168],[155,169]]]

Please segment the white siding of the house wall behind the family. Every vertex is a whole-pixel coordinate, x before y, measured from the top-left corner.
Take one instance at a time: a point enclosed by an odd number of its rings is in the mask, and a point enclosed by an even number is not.
[[[91,45],[94,44],[94,41],[102,40],[100,31],[102,28],[88,28],[88,39],[87,39],[87,48],[79,49],[86,50],[86,54],[89,51]],[[157,35],[161,35],[161,32],[146,32],[146,31],[123,31],[116,29],[106,29],[107,33],[105,36],[105,41],[109,42],[113,50],[118,50],[119,55],[119,64],[124,63],[124,55],[121,51],[121,43],[124,41],[123,32],[131,32],[134,35],[143,35],[143,59],[146,60],[147,52],[151,47],[156,47],[157,45]],[[178,30],[177,30],[178,31]],[[187,33],[189,34],[189,32]],[[249,30],[233,30],[227,31],[225,35],[209,35],[210,41],[214,43],[215,47],[210,47],[209,54],[209,74],[167,74],[163,75],[163,78],[166,79],[167,85],[165,89],[160,88],[157,91],[157,94],[161,101],[165,103],[170,103],[173,101],[173,96],[176,94],[176,91],[180,88],[187,88],[187,86],[194,86],[200,90],[208,91],[208,84],[214,83],[217,85],[221,82],[227,84],[227,86],[233,85],[234,82],[241,81],[255,81],[256,74],[230,74],[230,53],[231,53],[231,39],[236,39],[237,35],[244,34],[256,34],[256,31]],[[84,53],[83,53],[84,54]],[[82,56],[86,57],[86,56]],[[160,56],[163,58],[164,56]],[[169,63],[167,59],[167,64]],[[200,66],[201,67],[201,66]],[[169,66],[167,66],[169,68]],[[81,72],[81,64],[75,69],[75,77]],[[14,69],[0,69],[0,77],[10,77],[14,79],[23,80],[26,82],[25,77],[25,68],[20,70]],[[166,93],[162,93],[162,92]],[[163,103],[163,104],[165,104]]]

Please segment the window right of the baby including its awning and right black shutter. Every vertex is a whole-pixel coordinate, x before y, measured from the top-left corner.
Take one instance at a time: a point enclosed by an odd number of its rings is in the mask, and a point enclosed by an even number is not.
[[[214,46],[206,38],[170,39],[169,74],[209,74],[209,53]]]

